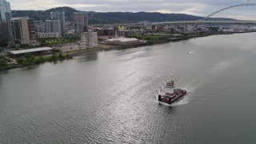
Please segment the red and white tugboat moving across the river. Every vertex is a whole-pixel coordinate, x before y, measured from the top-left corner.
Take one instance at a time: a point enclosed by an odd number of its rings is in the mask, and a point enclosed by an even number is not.
[[[158,95],[158,101],[172,104],[186,94],[186,90],[174,87],[174,81],[166,82],[165,94]]]

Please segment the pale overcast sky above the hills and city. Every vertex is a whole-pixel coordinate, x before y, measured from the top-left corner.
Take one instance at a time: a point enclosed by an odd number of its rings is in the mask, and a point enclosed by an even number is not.
[[[206,16],[226,6],[247,3],[248,0],[6,0],[11,10],[48,10],[70,6],[77,10],[97,12],[161,12]],[[250,0],[256,3],[256,0]]]

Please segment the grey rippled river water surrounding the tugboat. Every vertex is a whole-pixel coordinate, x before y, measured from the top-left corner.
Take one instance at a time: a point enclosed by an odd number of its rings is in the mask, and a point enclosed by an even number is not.
[[[0,72],[0,143],[256,143],[256,34]],[[186,54],[189,52],[189,54]],[[156,100],[170,79],[188,91]]]

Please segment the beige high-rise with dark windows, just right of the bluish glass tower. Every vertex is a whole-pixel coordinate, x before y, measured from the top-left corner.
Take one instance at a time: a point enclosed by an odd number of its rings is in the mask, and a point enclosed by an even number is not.
[[[12,38],[21,44],[36,43],[35,26],[33,19],[28,17],[11,18],[10,26]]]

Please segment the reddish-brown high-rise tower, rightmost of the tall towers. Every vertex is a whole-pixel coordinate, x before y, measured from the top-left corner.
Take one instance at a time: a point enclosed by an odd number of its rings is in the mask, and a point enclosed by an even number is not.
[[[86,12],[74,12],[74,31],[77,34],[88,31],[88,16]]]

